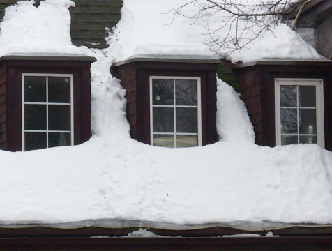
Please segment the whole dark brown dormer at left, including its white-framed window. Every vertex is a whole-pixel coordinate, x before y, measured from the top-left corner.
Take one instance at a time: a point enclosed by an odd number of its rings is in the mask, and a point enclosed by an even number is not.
[[[29,151],[91,137],[89,56],[24,54],[0,59],[0,148]]]

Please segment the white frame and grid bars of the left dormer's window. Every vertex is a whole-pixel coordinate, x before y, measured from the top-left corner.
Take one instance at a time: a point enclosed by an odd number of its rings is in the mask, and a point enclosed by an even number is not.
[[[25,102],[24,101],[24,77],[46,77],[46,102]],[[70,78],[70,104],[48,102],[48,77],[69,77]],[[22,151],[25,151],[25,132],[46,132],[46,148],[48,148],[49,132],[70,132],[70,145],[74,145],[74,75],[57,73],[22,73]],[[25,130],[24,105],[46,105],[46,130]],[[48,130],[48,106],[49,105],[70,105],[70,131]]]

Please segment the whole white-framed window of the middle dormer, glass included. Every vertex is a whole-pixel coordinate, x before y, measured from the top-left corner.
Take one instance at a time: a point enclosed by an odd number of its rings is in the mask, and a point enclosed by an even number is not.
[[[151,145],[202,146],[200,77],[150,77]]]

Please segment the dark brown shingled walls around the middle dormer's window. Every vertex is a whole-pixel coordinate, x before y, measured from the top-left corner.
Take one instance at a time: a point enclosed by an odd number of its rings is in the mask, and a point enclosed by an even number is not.
[[[126,89],[127,118],[133,139],[151,144],[150,76],[200,77],[202,145],[218,140],[216,130],[216,67],[219,61],[130,59],[114,63],[111,71]]]

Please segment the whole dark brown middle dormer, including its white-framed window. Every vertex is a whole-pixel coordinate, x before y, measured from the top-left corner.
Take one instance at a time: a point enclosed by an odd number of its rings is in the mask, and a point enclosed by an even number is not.
[[[170,148],[218,140],[216,68],[209,56],[158,56],[114,63],[112,75],[126,89],[130,135]]]

